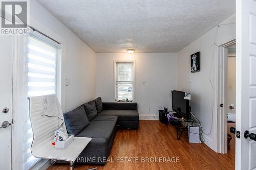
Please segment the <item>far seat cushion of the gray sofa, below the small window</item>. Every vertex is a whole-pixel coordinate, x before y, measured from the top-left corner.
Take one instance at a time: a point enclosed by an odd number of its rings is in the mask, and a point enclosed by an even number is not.
[[[115,115],[118,120],[137,120],[139,113],[137,110],[102,110],[98,115]]]

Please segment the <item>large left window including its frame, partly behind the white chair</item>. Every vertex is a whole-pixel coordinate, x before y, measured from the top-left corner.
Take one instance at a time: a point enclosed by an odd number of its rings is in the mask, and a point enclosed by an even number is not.
[[[23,82],[20,82],[20,89],[23,90],[21,100],[23,102],[22,116],[16,118],[19,127],[17,133],[22,136],[16,138],[18,169],[29,169],[37,161],[32,156],[30,147],[33,140],[33,133],[29,118],[29,103],[28,96],[39,96],[46,94],[55,94],[60,90],[58,88],[58,58],[60,52],[59,44],[53,42],[46,37],[37,37],[29,35],[25,40],[25,57],[23,65],[24,71],[20,72],[23,75]],[[19,149],[21,148],[21,149]]]

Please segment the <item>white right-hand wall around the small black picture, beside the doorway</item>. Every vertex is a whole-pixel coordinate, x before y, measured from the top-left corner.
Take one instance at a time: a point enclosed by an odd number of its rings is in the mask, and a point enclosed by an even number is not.
[[[219,28],[215,27],[178,52],[178,89],[191,93],[190,105],[192,112],[201,121],[204,131],[206,133],[211,131],[209,135],[204,134],[205,143],[211,149],[214,149],[214,134],[216,133],[215,120],[213,121],[215,128],[211,127],[213,90],[209,81],[210,77],[213,83],[215,81],[213,79],[215,74],[214,43],[221,45],[236,38],[236,25],[234,22],[236,22],[236,16],[232,15],[221,23],[228,23],[228,25],[221,25]],[[190,73],[190,55],[196,52],[200,52],[201,70],[200,72]],[[212,57],[214,58],[211,62]]]

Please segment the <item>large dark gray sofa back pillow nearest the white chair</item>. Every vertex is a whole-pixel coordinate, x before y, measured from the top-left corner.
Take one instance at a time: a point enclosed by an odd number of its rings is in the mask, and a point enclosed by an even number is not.
[[[69,134],[77,135],[90,124],[83,106],[69,111],[63,114],[63,116]]]

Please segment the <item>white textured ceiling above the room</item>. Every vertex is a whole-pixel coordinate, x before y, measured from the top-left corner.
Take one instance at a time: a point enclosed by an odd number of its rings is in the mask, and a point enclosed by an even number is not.
[[[37,0],[97,53],[178,52],[235,13],[234,0]]]

